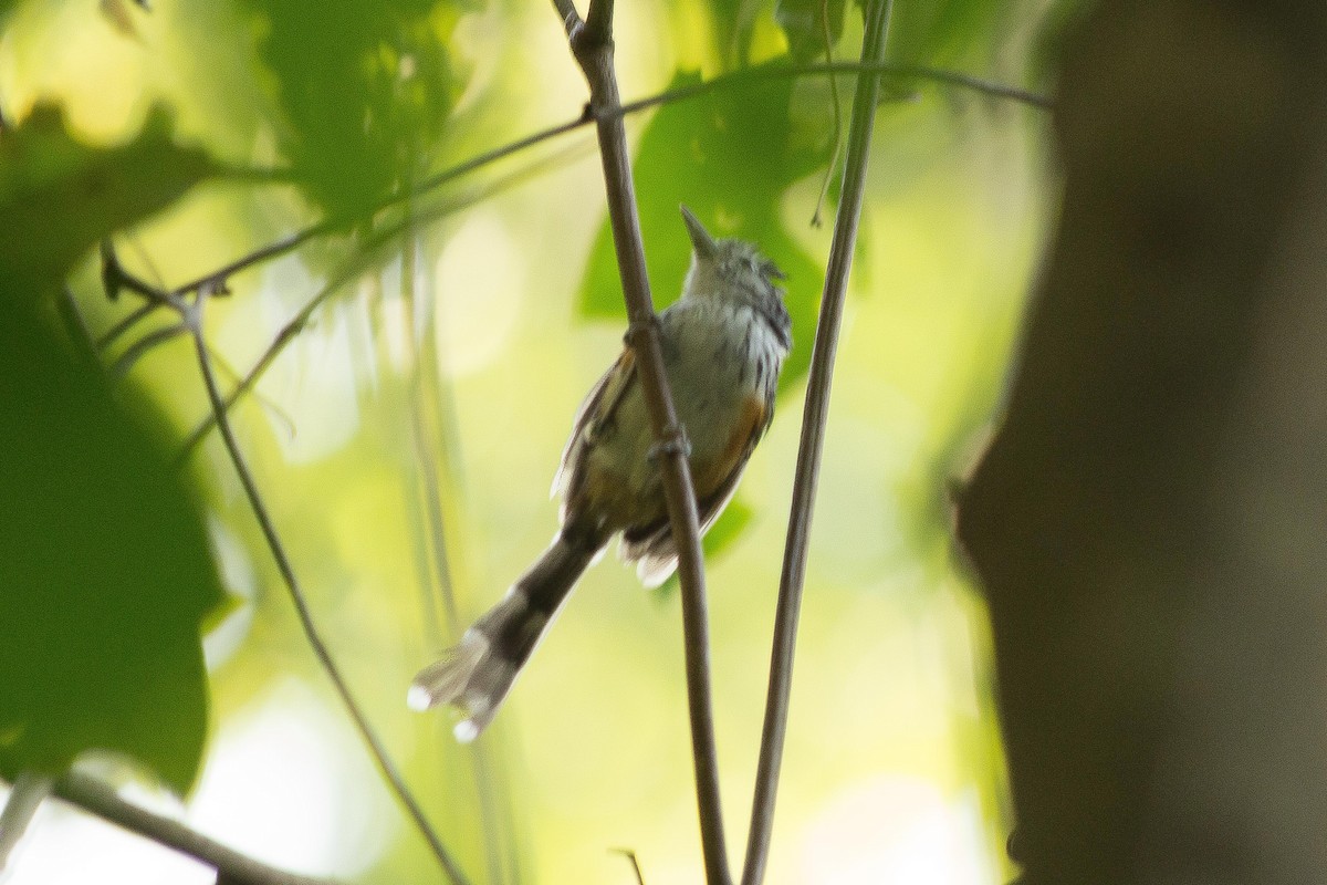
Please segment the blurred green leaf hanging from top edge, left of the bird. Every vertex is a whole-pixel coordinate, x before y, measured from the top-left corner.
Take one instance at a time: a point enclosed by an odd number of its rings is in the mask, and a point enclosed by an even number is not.
[[[263,19],[285,153],[314,200],[360,212],[423,169],[463,86],[446,52],[463,4],[248,5]]]

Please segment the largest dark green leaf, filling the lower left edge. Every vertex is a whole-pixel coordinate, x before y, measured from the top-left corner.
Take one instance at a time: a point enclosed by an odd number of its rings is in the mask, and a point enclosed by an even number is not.
[[[183,793],[207,734],[199,629],[223,601],[203,520],[27,308],[0,297],[0,776],[107,750]]]

